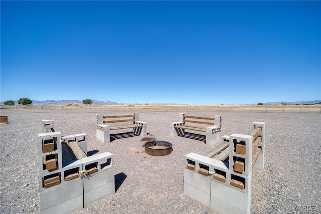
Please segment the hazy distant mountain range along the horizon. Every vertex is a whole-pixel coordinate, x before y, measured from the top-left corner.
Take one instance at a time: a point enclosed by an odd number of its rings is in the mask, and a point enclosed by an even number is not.
[[[18,105],[18,100],[14,101],[16,105]],[[314,100],[314,101],[296,101],[296,102],[283,102],[286,105],[301,105],[301,104],[315,104],[320,103],[321,100]],[[82,100],[45,100],[45,101],[39,101],[39,100],[32,100],[33,105],[67,105],[67,104],[75,104],[78,103],[80,105],[83,105]],[[4,102],[0,102],[1,105],[4,105]],[[149,103],[150,105],[188,105],[188,104],[177,104],[177,103]],[[281,102],[267,102],[263,103],[264,105],[277,105],[281,104]],[[93,100],[92,105],[128,105],[128,103],[115,103],[111,101],[99,101],[99,100]],[[140,104],[143,105],[143,104]],[[240,104],[242,105],[242,104]],[[245,105],[257,105],[257,103],[254,104],[245,104]]]

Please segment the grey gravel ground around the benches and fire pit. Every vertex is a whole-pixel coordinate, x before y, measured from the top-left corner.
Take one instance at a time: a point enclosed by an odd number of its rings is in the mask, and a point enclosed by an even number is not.
[[[75,213],[215,213],[183,193],[184,156],[206,154],[215,146],[185,137],[170,137],[179,112],[139,112],[147,132],[173,143],[170,155],[145,154],[141,136],[96,140],[96,114],[132,112],[94,110],[2,110],[0,213],[39,212],[38,145],[41,121],[54,119],[61,134],[87,134],[88,151],[114,155],[116,192]],[[252,122],[265,122],[265,168],[252,172],[252,213],[321,213],[321,115],[316,113],[193,112],[222,115],[223,135],[247,134]],[[112,133],[121,133],[117,130]],[[301,210],[295,210],[301,206]],[[307,210],[317,208],[317,210]],[[305,208],[304,208],[305,207]],[[305,209],[305,210],[303,210]]]

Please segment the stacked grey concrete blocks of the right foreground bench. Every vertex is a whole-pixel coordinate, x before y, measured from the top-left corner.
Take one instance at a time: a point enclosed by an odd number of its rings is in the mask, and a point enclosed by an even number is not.
[[[254,165],[261,170],[264,167],[264,126],[264,123],[252,123],[253,129],[262,127],[261,159]],[[232,134],[223,138],[230,142],[228,162],[195,153],[185,156],[184,193],[219,213],[250,213],[253,136]],[[237,142],[245,145],[245,154],[236,152]],[[243,172],[235,170],[235,161],[239,160],[244,163]]]

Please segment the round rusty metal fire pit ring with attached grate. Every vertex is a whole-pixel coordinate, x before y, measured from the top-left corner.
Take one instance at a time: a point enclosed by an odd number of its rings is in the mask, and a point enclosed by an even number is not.
[[[155,140],[155,137],[144,137],[140,141],[147,141],[145,146],[145,153],[152,156],[165,156],[171,154],[173,151],[172,143],[162,140]]]

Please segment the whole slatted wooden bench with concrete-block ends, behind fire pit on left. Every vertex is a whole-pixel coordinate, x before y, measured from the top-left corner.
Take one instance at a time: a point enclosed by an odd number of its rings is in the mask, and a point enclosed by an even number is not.
[[[103,143],[110,142],[110,130],[133,129],[132,136],[147,135],[147,123],[138,121],[139,113],[109,116],[97,114],[96,120],[96,137]],[[115,126],[105,124],[115,124]]]

